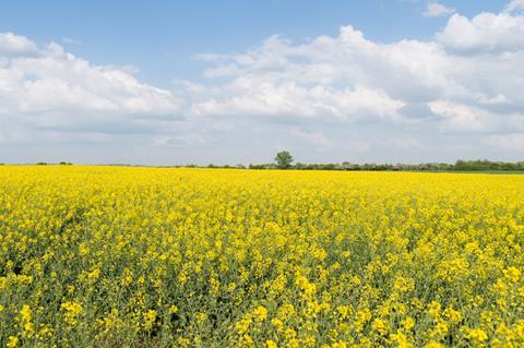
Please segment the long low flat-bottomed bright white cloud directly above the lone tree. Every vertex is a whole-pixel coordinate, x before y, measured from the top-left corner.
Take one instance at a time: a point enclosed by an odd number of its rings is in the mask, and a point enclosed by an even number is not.
[[[357,86],[355,89],[335,89],[317,85],[306,87],[296,83],[262,82],[243,76],[229,87],[231,97],[196,103],[192,111],[198,116],[296,116],[303,118],[333,117],[355,119],[358,113],[379,118],[395,118],[401,101],[381,92]]]

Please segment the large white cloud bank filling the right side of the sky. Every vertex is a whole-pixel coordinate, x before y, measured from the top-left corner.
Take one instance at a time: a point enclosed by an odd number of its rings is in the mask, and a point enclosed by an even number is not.
[[[205,73],[211,80],[209,88],[201,89],[201,98],[193,94],[192,115],[438,122],[441,132],[502,129],[503,115],[524,107],[520,93],[524,89],[524,47],[498,40],[500,26],[483,20],[487,15],[468,20],[455,14],[433,41],[381,44],[353,26],[343,26],[338,36],[319,36],[300,45],[272,36],[240,55],[209,55],[206,59],[215,67]],[[489,16],[510,17],[510,27],[522,20],[508,14]],[[464,43],[471,47],[495,43],[499,49],[492,55],[458,52],[461,45],[449,41],[457,21],[483,33],[465,37]],[[221,80],[213,83],[216,75]],[[409,107],[414,105],[415,111]],[[406,112],[406,106],[413,112]],[[418,115],[421,110],[424,115]]]

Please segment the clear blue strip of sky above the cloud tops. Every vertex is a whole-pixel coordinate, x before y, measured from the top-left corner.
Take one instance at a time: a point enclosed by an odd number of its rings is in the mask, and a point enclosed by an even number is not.
[[[448,1],[465,15],[499,12],[507,1]],[[168,87],[199,80],[203,52],[241,52],[271,35],[300,43],[352,24],[377,41],[430,39],[446,17],[420,15],[414,0],[5,1],[0,28],[38,44],[57,41],[97,64],[130,64],[141,80]],[[63,41],[66,39],[66,43]],[[72,39],[82,43],[68,43]]]

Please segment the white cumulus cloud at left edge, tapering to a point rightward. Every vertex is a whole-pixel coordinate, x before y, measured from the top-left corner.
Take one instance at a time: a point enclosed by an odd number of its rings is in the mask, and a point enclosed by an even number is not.
[[[3,139],[33,141],[45,130],[142,132],[152,120],[179,117],[180,106],[172,92],[140,83],[129,68],[93,65],[55,43],[38,47],[0,34]]]

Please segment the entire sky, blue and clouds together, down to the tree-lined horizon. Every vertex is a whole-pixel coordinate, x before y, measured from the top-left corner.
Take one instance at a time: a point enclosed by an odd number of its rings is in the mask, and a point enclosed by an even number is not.
[[[523,159],[523,8],[3,2],[0,161]]]

